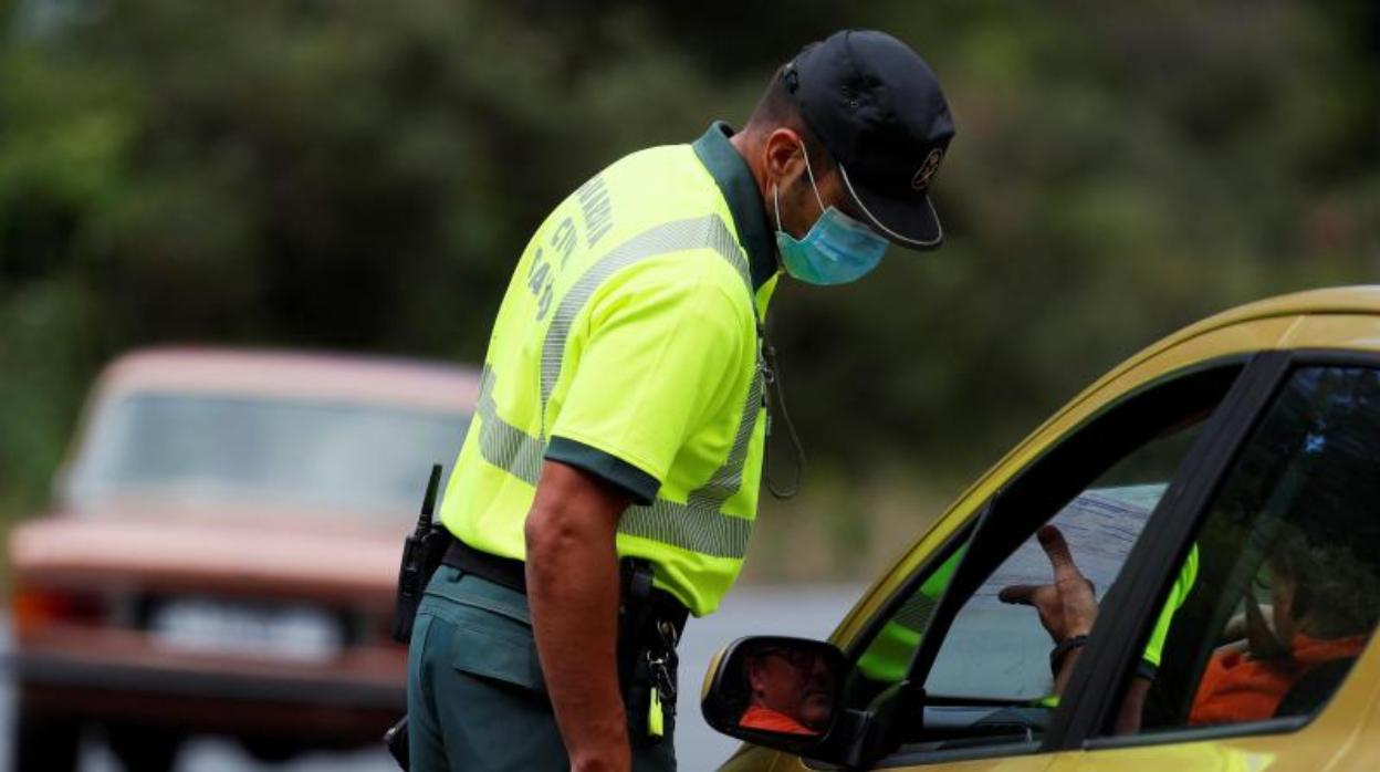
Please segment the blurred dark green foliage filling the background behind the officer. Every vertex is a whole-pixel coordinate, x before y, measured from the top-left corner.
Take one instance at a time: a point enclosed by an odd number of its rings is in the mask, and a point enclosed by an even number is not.
[[[477,360],[551,206],[840,26],[944,83],[948,242],[782,287],[791,406],[827,479],[970,476],[1181,325],[1373,276],[1377,8],[0,0],[0,512],[131,347]]]

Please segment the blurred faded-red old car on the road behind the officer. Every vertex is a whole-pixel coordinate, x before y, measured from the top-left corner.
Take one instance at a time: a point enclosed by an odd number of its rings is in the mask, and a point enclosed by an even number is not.
[[[377,743],[406,708],[389,638],[403,536],[454,459],[469,369],[214,349],[99,378],[51,512],[10,537],[14,769],[130,769],[182,739],[264,760]]]

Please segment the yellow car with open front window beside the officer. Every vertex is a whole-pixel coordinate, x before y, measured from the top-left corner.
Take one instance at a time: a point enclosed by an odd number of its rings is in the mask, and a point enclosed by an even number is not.
[[[1380,287],[1246,305],[1016,446],[831,641],[745,638],[722,769],[1380,769]]]

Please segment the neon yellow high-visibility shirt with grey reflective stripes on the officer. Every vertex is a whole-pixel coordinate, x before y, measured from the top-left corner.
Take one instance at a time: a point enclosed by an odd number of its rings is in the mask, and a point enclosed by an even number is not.
[[[773,229],[713,124],[627,156],[542,222],[484,356],[479,407],[440,508],[466,544],[522,559],[544,460],[631,492],[621,557],[696,616],[733,584],[758,508],[766,432],[760,318]]]

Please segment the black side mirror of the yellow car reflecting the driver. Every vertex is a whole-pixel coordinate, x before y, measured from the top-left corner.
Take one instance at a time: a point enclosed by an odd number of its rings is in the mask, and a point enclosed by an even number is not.
[[[832,644],[740,638],[709,663],[700,707],[716,732],[807,754],[839,722],[845,668],[843,652]]]

